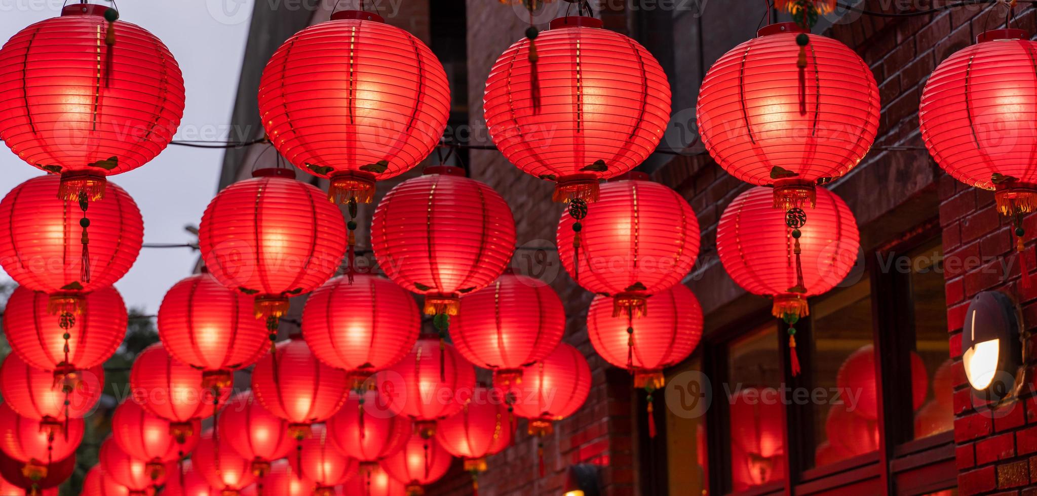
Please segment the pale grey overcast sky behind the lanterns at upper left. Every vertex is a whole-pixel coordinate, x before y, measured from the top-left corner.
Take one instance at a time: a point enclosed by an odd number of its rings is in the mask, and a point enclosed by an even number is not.
[[[69,0],[75,2],[77,0]],[[101,3],[91,0],[91,3]],[[226,139],[237,92],[252,2],[243,0],[117,0],[120,19],[161,38],[180,65],[187,108],[176,140]],[[60,0],[0,0],[0,40],[32,23],[58,16]],[[216,194],[223,150],[166,148],[135,171],[113,176],[144,215],[144,242],[193,241],[184,226],[197,226]],[[0,195],[40,171],[0,145]],[[128,307],[159,310],[162,296],[190,274],[198,254],[190,249],[144,249],[115,284]],[[0,274],[5,280],[7,275]]]

